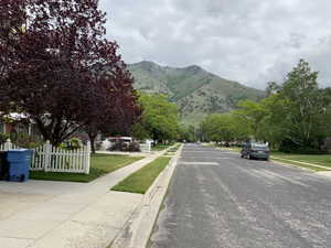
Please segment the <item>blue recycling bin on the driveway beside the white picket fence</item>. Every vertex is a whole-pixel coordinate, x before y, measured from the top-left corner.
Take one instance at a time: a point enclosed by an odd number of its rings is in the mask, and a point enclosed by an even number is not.
[[[9,162],[9,181],[24,182],[29,179],[32,151],[28,149],[9,150],[7,161]]]

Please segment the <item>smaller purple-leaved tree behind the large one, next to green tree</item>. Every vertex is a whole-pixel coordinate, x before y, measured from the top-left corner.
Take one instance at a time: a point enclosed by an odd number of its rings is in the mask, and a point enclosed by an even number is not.
[[[95,90],[93,95],[97,97],[92,99],[85,109],[85,116],[82,117],[86,122],[85,131],[88,133],[93,152],[98,133],[129,134],[131,126],[141,115],[138,97],[132,87],[134,78],[124,63],[117,66],[119,66],[117,71],[109,72],[108,68],[104,68],[94,74],[96,86],[92,90]],[[118,90],[114,90],[114,86]]]

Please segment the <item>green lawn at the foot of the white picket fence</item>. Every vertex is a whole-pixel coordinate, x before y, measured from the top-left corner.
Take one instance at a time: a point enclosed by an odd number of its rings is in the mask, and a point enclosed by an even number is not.
[[[88,183],[102,175],[114,172],[141,159],[143,158],[128,155],[93,154],[90,157],[89,174],[31,171],[30,179]]]

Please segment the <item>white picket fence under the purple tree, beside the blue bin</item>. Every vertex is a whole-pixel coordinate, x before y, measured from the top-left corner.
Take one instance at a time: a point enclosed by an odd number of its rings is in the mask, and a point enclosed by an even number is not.
[[[0,145],[0,151],[19,149],[10,140]],[[53,147],[50,141],[33,149],[30,170],[45,172],[89,173],[90,142],[82,149],[64,150]]]

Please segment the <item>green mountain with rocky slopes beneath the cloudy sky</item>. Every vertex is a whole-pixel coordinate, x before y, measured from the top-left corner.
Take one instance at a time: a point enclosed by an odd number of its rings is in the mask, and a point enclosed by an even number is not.
[[[135,88],[168,95],[181,111],[184,122],[196,123],[207,114],[227,112],[239,100],[258,100],[265,91],[224,79],[197,65],[177,68],[153,62],[128,65]]]

